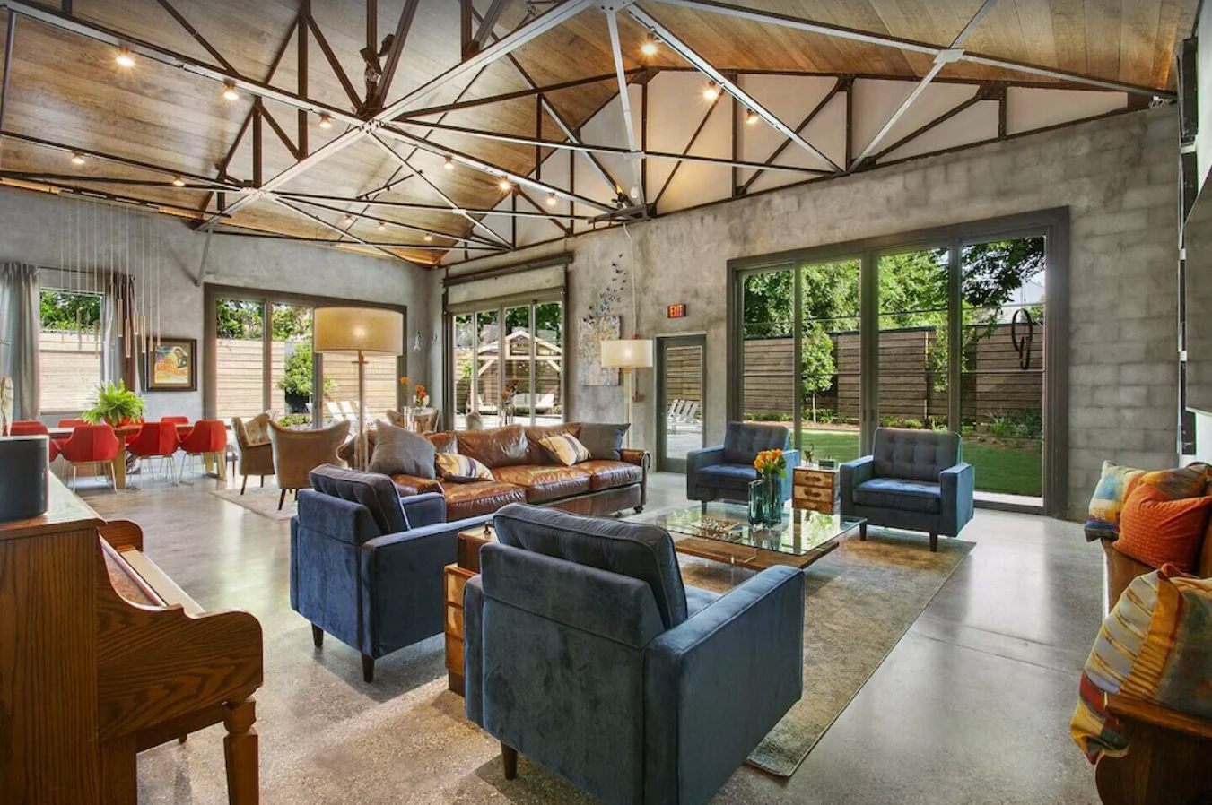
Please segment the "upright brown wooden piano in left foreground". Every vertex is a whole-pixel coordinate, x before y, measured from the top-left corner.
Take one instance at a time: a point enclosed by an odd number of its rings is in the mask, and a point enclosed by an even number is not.
[[[57,479],[0,522],[0,804],[135,805],[136,754],[227,726],[231,805],[258,799],[261,623],[204,613]]]

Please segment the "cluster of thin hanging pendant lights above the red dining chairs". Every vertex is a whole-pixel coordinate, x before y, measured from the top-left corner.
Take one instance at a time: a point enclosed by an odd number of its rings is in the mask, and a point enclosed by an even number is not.
[[[59,240],[64,291],[102,298],[96,321],[76,311],[75,334],[80,349],[90,344],[103,364],[160,345],[164,261],[154,228],[153,213],[132,207],[88,201],[67,207]],[[116,374],[116,367],[107,366],[105,374]]]

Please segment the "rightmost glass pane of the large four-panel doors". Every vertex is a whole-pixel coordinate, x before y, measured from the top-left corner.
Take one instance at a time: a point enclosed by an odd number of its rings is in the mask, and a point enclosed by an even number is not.
[[[1045,238],[962,251],[964,458],[977,491],[1044,494]]]

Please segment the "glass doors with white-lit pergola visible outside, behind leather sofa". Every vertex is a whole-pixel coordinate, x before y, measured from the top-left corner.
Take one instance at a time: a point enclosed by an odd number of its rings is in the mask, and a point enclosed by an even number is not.
[[[456,430],[564,421],[562,300],[486,301],[447,311]]]

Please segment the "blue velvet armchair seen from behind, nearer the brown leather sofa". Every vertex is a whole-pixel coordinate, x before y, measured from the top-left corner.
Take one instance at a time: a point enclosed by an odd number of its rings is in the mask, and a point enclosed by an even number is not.
[[[316,648],[327,632],[360,651],[373,682],[375,660],[442,631],[442,568],[490,518],[447,523],[441,495],[401,499],[387,476],[325,465],[310,481],[291,518],[291,606]]]

